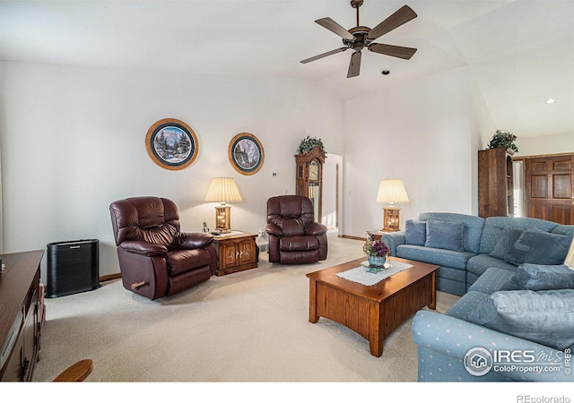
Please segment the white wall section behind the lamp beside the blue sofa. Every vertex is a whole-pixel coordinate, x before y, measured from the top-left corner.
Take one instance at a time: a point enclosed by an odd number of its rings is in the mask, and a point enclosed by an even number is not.
[[[382,227],[381,179],[403,179],[401,227],[424,211],[474,212],[473,90],[461,68],[345,102],[344,234]]]

